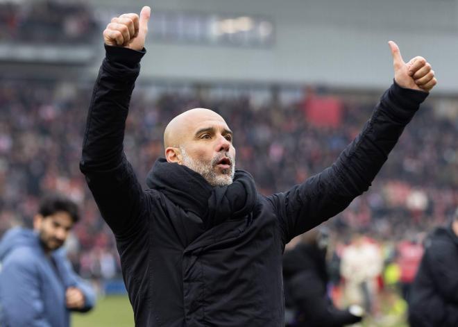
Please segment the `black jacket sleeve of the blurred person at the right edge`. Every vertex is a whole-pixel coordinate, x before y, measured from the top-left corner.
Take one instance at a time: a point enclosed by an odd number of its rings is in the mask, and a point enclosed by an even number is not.
[[[457,246],[443,240],[426,244],[425,260],[436,290],[447,303],[458,305]]]

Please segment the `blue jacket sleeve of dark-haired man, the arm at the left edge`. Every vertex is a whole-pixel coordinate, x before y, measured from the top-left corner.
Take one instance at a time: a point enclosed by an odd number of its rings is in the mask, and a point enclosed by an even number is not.
[[[3,262],[0,278],[2,321],[6,326],[51,327],[44,317],[39,278],[30,258],[11,256]]]

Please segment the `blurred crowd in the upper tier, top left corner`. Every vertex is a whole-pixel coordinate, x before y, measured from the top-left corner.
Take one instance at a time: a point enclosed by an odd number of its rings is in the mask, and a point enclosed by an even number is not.
[[[96,19],[82,1],[0,1],[0,42],[83,44]]]

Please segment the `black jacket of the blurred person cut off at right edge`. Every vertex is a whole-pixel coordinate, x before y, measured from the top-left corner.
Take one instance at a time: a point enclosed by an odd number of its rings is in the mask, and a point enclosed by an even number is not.
[[[458,326],[458,237],[451,225],[436,228],[425,240],[425,253],[409,296],[412,327]]]

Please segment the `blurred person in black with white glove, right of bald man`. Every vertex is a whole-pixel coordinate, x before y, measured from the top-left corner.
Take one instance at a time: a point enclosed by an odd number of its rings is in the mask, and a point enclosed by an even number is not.
[[[346,310],[339,310],[328,296],[328,243],[328,230],[314,228],[300,237],[294,249],[285,253],[285,305],[294,311],[287,321],[289,327],[339,327],[362,320],[362,307],[350,305]]]

